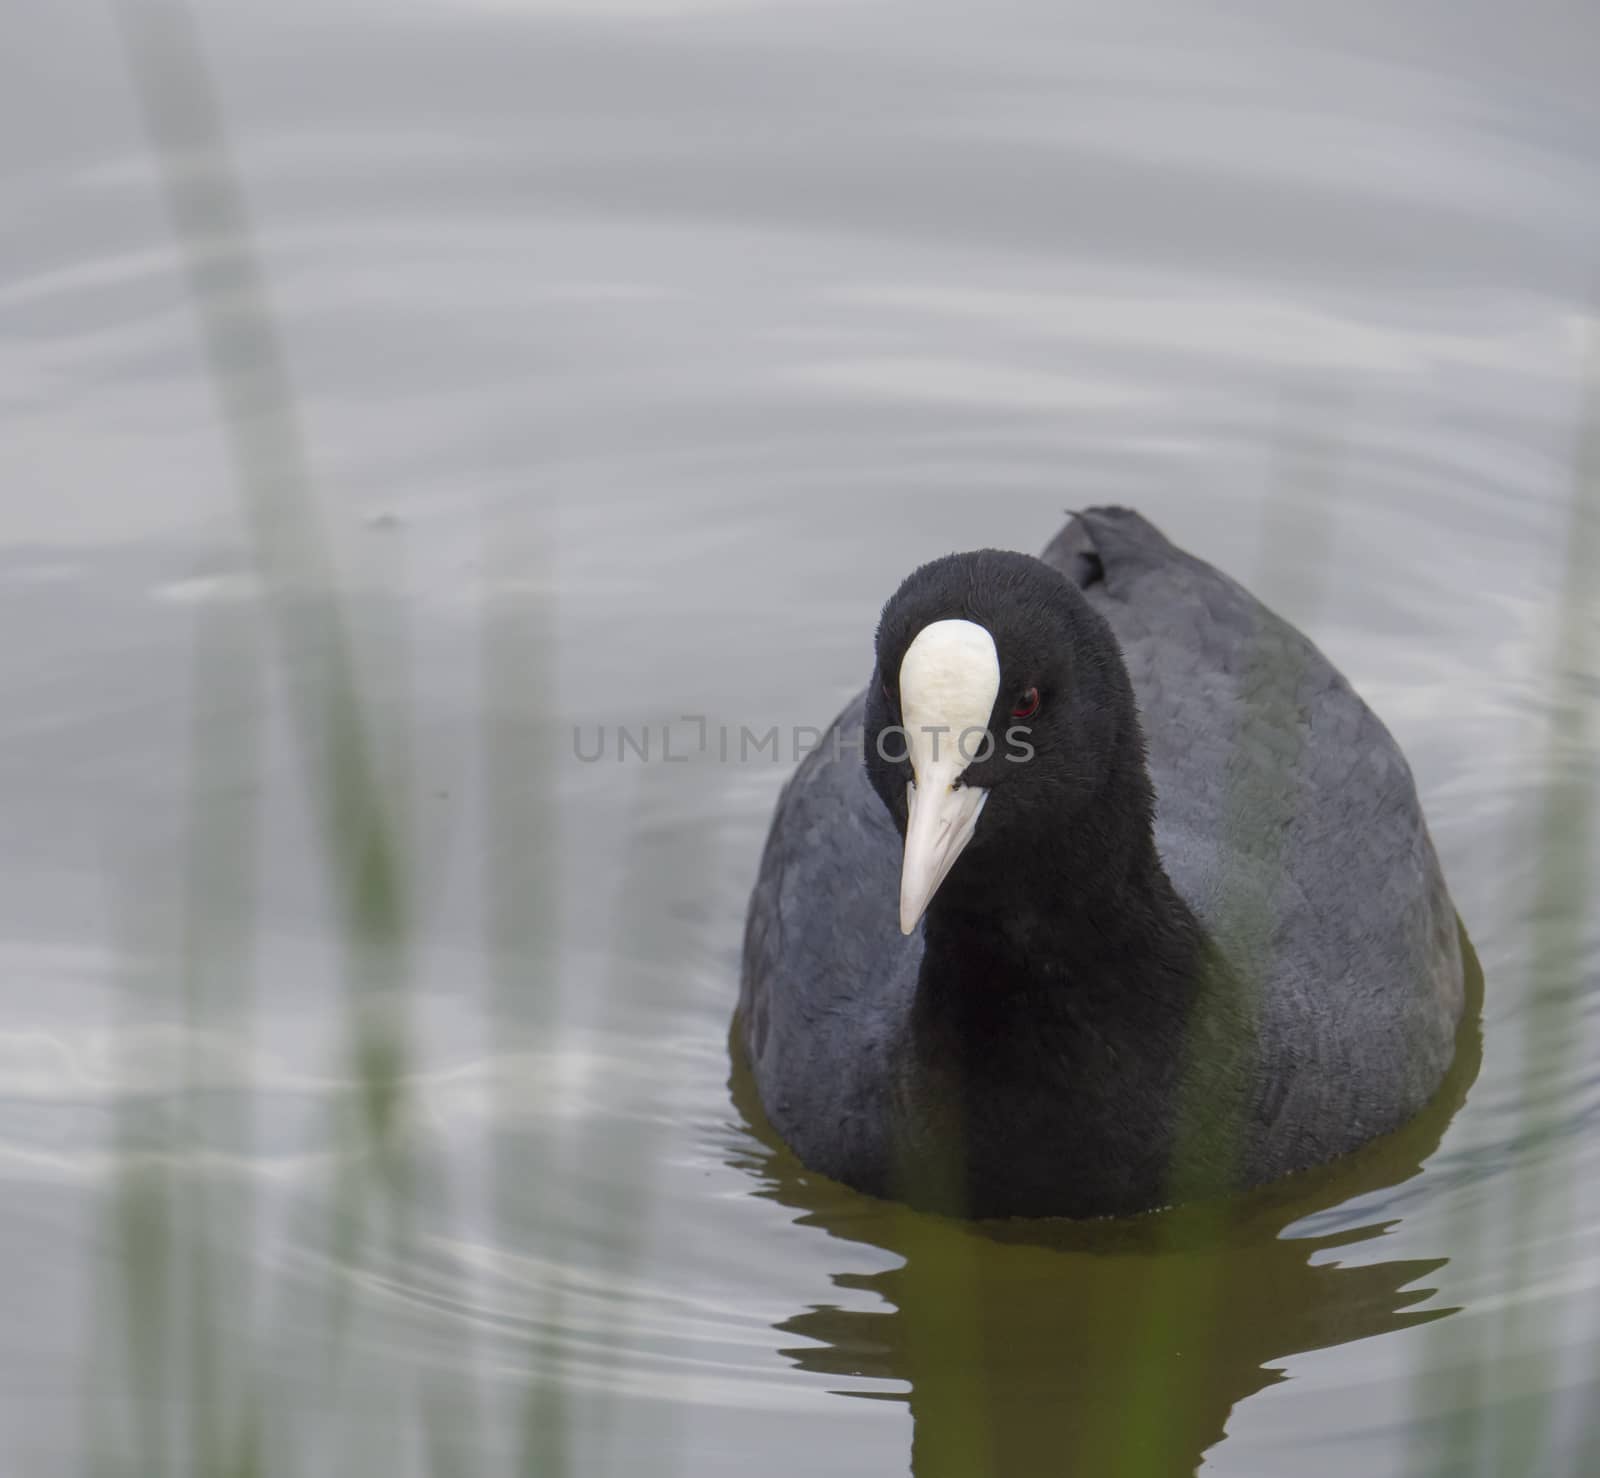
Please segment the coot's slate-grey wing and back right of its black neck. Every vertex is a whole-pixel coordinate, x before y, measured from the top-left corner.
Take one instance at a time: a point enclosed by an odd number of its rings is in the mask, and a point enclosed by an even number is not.
[[[1086,510],[1043,558],[1122,645],[1162,857],[1258,993],[1269,1152],[1400,1123],[1450,1064],[1462,973],[1398,745],[1301,632],[1138,513]]]

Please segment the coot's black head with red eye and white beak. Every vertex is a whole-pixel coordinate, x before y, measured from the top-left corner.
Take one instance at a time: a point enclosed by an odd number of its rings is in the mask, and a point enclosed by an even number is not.
[[[941,888],[981,907],[986,877],[1050,865],[1118,757],[1142,774],[1110,627],[1059,571],[995,549],[923,565],[890,597],[864,739],[906,841],[906,934]]]

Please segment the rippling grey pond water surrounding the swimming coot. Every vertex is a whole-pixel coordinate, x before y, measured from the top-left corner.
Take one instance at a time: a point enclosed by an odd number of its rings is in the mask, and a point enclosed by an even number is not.
[[[1582,10],[182,16],[0,24],[0,1467],[1600,1472]],[[768,1142],[744,899],[901,576],[1093,502],[1395,731],[1482,1030],[963,1227]]]

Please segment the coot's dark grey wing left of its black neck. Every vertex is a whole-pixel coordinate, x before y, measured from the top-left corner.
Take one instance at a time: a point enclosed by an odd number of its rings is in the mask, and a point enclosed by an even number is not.
[[[886,1184],[893,1037],[922,934],[896,920],[901,841],[867,781],[858,694],[778,801],[744,929],[739,1030],[773,1128],[810,1166]]]

